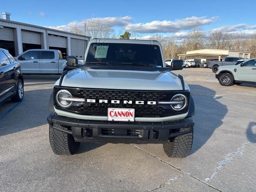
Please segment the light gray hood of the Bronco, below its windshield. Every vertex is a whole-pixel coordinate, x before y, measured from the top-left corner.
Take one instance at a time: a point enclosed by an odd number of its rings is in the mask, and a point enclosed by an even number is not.
[[[56,82],[58,84],[59,80]],[[62,86],[124,90],[182,90],[178,76],[158,70],[81,69],[69,71]],[[185,84],[185,88],[189,89]]]

